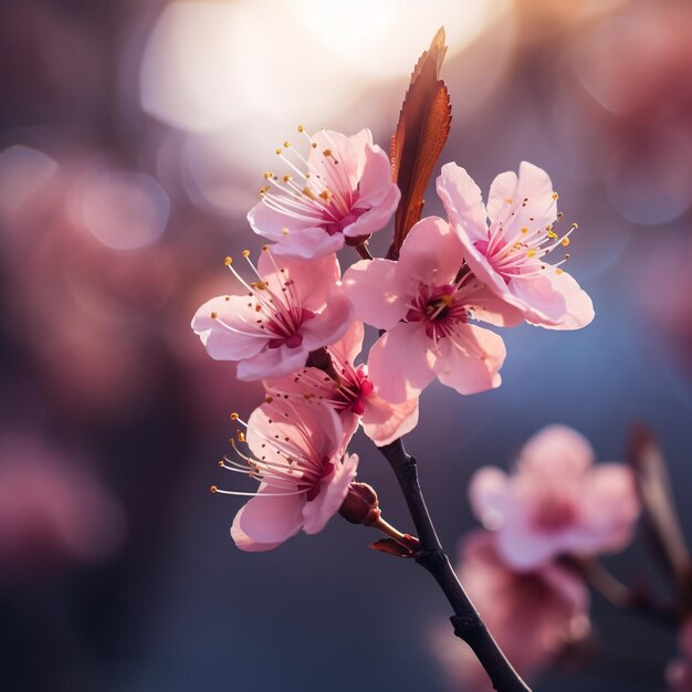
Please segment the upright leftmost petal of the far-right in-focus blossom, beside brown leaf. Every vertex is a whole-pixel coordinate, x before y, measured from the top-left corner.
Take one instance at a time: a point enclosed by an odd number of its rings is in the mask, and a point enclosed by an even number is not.
[[[487,212],[471,176],[457,164],[445,164],[436,188],[450,223],[463,227],[471,242],[487,240]]]

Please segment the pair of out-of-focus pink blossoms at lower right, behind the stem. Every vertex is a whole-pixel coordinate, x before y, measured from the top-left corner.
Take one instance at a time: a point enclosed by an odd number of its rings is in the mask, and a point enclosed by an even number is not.
[[[588,635],[584,573],[598,555],[622,551],[633,536],[641,510],[635,474],[621,463],[594,460],[580,433],[551,426],[526,442],[512,474],[484,466],[471,480],[469,500],[485,531],[462,539],[458,573],[527,678]],[[438,631],[432,641],[454,689],[492,689],[459,642]],[[677,663],[671,677],[682,680],[688,668],[686,661]]]

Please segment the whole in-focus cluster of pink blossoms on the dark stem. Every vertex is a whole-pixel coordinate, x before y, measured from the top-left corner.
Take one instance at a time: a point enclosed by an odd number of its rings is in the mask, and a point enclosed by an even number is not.
[[[256,263],[243,252],[247,272],[227,258],[242,293],[210,300],[192,319],[212,358],[235,361],[239,379],[265,388],[247,423],[232,416],[245,429],[221,462],[260,483],[219,491],[252,495],[231,532],[248,551],[325,525],[355,478],[358,459],[346,449],[359,424],[381,447],[416,427],[433,379],[463,395],[497,387],[503,339],[475,323],[575,329],[594,318],[563,270],[568,255],[548,263],[577,227],[558,232],[545,171],[522,162],[518,175],[501,174],[484,203],[466,171],[447,164],[437,179],[447,219],[421,219],[396,259],[370,259],[367,241],[400,199],[387,154],[367,129],[298,133],[307,155],[287,141],[276,149],[285,172],[265,172],[248,214],[273,244]],[[368,259],[342,277],[345,247]],[[361,355],[364,324],[380,335]]]

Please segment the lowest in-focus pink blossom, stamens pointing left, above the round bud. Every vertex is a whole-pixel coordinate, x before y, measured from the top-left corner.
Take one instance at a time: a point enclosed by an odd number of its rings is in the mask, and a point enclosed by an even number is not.
[[[240,432],[238,440],[247,439],[249,453],[233,441],[241,461],[226,458],[220,465],[259,481],[259,490],[212,486],[214,492],[252,497],[233,520],[235,545],[271,551],[301,528],[306,534],[322,531],[340,507],[358,465],[358,457],[346,453],[350,434],[337,413],[326,406],[275,399],[255,409],[245,427],[247,436]]]

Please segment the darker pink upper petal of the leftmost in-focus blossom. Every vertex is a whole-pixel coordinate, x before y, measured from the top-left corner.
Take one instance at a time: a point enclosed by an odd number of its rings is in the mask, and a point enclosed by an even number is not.
[[[313,312],[321,311],[327,292],[340,277],[338,260],[335,254],[319,259],[301,260],[287,256],[271,256],[271,252],[262,252],[258,261],[258,271],[272,290],[281,294],[285,281],[291,280],[290,294],[302,306]],[[282,271],[283,270],[283,271]]]

